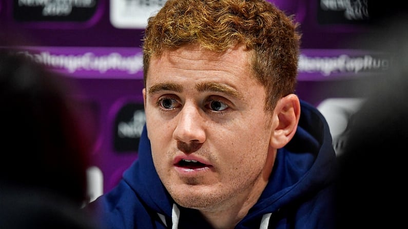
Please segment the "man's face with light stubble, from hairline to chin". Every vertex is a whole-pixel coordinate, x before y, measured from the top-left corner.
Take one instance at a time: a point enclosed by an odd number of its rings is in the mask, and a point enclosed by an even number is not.
[[[221,54],[189,45],[150,61],[143,95],[153,162],[182,206],[228,207],[264,188],[273,115],[248,59],[241,46]]]

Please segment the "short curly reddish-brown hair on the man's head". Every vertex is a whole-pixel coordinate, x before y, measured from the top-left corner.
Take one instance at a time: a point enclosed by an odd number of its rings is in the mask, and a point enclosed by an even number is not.
[[[143,44],[144,81],[151,57],[199,44],[224,52],[244,44],[250,67],[266,89],[265,110],[296,88],[301,34],[293,15],[264,0],[168,0],[149,18]]]

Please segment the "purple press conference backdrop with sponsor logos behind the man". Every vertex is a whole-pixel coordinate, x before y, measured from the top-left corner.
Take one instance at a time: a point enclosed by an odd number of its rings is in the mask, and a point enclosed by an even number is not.
[[[372,32],[365,0],[269,0],[301,24],[298,96],[326,116],[336,154],[353,112],[390,56],[359,36]],[[69,76],[93,133],[91,200],[138,158],[143,110],[142,37],[165,0],[0,0],[1,47],[17,46]]]

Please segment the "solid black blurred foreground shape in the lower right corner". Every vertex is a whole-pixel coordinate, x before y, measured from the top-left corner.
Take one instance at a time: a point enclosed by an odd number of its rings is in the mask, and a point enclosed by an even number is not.
[[[354,115],[340,164],[338,228],[397,228],[407,204],[408,84],[388,82]]]

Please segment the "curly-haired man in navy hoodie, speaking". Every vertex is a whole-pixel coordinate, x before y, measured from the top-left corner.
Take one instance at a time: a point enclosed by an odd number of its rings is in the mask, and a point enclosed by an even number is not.
[[[294,94],[300,34],[261,0],[169,0],[144,39],[146,128],[108,228],[331,228],[327,123]]]

